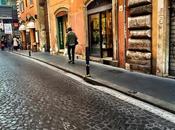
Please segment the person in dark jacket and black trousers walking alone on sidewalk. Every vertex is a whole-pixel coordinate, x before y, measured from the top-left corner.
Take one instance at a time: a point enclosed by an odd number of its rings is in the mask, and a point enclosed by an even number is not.
[[[78,42],[77,42],[77,36],[72,31],[72,28],[69,27],[67,29],[67,37],[66,37],[66,47],[67,47],[67,50],[68,50],[68,57],[69,57],[68,63],[74,64],[75,47],[76,47],[77,44],[78,44]]]

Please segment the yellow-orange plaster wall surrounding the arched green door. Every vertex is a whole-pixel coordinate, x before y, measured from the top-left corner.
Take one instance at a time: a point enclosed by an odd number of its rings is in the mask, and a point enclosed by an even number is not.
[[[83,54],[85,48],[83,0],[49,0],[48,12],[51,51],[53,53],[58,52],[56,13],[61,11],[67,11],[68,26],[71,26],[78,36],[79,44],[76,47],[76,53]]]

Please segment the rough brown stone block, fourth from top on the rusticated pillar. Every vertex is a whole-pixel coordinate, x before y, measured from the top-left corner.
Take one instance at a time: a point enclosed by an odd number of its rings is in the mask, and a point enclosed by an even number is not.
[[[128,49],[134,51],[151,51],[151,40],[149,39],[129,39]]]

